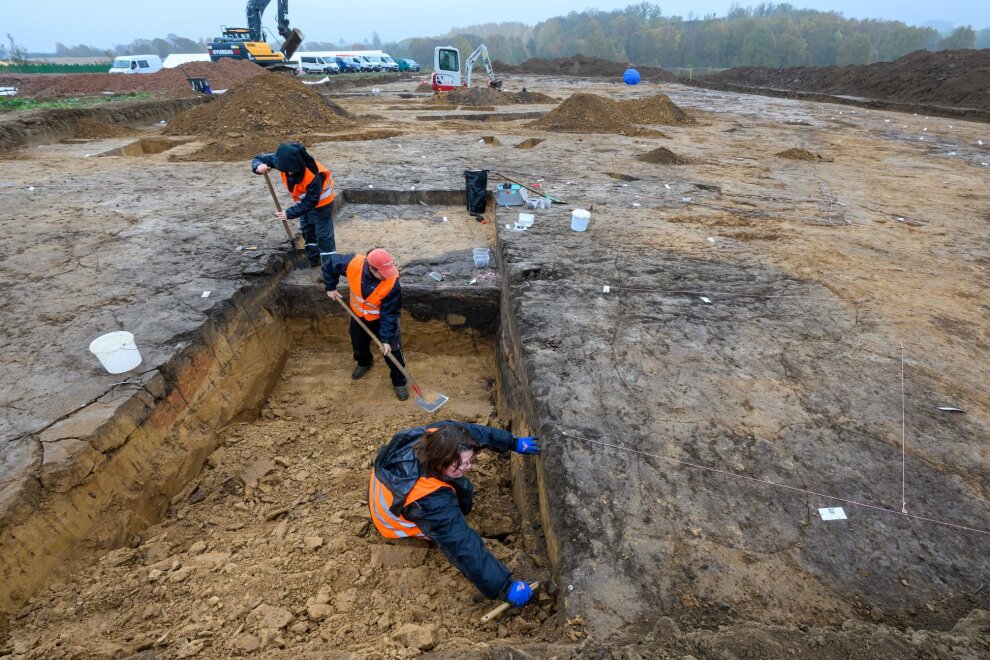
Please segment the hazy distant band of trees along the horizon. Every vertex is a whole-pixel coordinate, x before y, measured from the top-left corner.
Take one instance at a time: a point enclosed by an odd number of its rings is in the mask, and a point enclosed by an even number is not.
[[[300,26],[316,33],[318,25]],[[24,55],[8,35],[0,57]],[[170,34],[137,39],[113,49],[57,44],[57,57],[113,57],[156,53],[205,53],[206,40]],[[377,34],[363,43],[306,41],[307,50],[381,48],[395,57],[411,57],[429,66],[433,48],[453,45],[471,52],[488,46],[493,59],[518,64],[532,57],[597,56],[616,62],[668,69],[725,69],[737,66],[789,67],[870,64],[895,60],[915,50],[990,47],[990,28],[970,26],[951,33],[912,27],[900,21],[856,20],[836,12],[796,9],[789,4],[734,7],[727,16],[703,18],[664,16],[658,5],[643,2],[616,11],[587,10],[527,26],[518,22],[488,23],[452,30],[436,37],[382,42]],[[6,53],[4,52],[6,51]],[[27,55],[40,55],[28,53]],[[47,55],[51,55],[50,53]]]

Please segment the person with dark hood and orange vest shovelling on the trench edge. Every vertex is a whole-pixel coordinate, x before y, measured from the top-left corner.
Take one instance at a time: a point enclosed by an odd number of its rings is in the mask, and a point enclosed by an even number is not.
[[[333,236],[333,174],[298,142],[283,142],[275,153],[258,154],[251,161],[255,174],[264,174],[273,168],[282,173],[282,181],[295,202],[284,211],[276,211],[275,215],[280,220],[299,218],[309,265],[327,263],[337,250]]]

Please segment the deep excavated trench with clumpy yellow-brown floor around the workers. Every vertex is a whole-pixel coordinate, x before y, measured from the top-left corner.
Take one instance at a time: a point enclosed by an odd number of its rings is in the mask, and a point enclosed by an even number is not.
[[[343,197],[356,223],[367,205],[457,193]],[[3,532],[11,650],[402,655],[557,634],[549,597],[479,625],[494,603],[438,550],[390,543],[369,524],[369,465],[393,433],[447,418],[508,426],[499,287],[403,285],[409,367],[450,397],[430,415],[395,399],[380,359],[350,379],[346,315],[289,268],[235,295],[178,358],[98,402],[88,435],[75,417],[46,431],[46,450],[85,440],[100,458]],[[532,461],[483,453],[468,518],[530,579],[550,573],[533,474]]]

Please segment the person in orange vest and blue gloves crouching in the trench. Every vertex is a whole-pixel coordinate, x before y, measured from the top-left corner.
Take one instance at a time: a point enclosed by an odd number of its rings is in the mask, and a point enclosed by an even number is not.
[[[368,507],[385,538],[432,541],[486,597],[522,607],[533,596],[528,582],[513,580],[464,519],[474,498],[465,474],[484,448],[540,453],[537,438],[480,424],[448,420],[399,431],[375,457]]]

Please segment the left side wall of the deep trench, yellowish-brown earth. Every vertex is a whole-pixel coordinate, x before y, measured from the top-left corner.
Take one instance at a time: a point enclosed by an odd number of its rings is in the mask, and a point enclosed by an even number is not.
[[[279,277],[247,286],[186,348],[38,433],[0,484],[0,627],[56,572],[126,545],[216,449],[217,431],[257,414],[288,357]],[[6,453],[8,448],[4,448]]]

